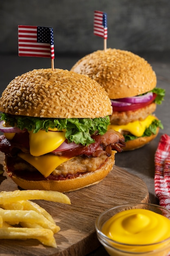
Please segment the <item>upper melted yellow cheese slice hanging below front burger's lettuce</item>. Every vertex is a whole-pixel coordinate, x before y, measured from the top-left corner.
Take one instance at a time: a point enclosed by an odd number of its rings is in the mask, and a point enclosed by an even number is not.
[[[65,132],[29,132],[30,154],[37,157],[52,152],[65,141]]]

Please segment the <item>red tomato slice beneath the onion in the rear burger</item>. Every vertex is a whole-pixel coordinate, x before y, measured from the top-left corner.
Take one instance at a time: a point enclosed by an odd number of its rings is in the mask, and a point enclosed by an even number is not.
[[[147,102],[132,103],[129,106],[121,106],[121,107],[113,106],[113,111],[114,112],[115,111],[122,112],[122,111],[137,110],[139,108],[144,108],[144,107],[148,106],[150,103],[152,103],[155,100],[156,97],[157,97],[157,94],[153,93],[153,98],[150,99],[150,101],[147,101]]]

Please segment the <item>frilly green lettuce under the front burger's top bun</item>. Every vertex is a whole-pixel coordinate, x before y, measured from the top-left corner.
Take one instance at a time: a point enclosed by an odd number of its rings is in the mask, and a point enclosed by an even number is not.
[[[65,137],[69,142],[76,144],[89,145],[94,142],[91,135],[103,135],[107,132],[107,126],[110,124],[109,116],[100,118],[40,118],[13,116],[1,113],[1,120],[9,123],[10,126],[17,126],[21,130],[26,128],[34,133],[43,129],[48,132],[48,128],[57,128],[59,131],[65,130]]]

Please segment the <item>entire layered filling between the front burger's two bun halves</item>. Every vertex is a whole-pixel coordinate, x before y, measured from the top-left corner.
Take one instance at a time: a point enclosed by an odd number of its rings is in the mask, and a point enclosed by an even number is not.
[[[41,119],[3,113],[1,119],[0,150],[9,175],[73,178],[100,168],[112,150],[125,146],[119,132],[107,130],[109,117]]]

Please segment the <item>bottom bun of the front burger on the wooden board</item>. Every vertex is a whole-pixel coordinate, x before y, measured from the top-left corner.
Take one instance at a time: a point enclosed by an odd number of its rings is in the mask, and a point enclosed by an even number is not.
[[[70,192],[92,186],[103,180],[113,168],[115,153],[116,151],[112,151],[111,156],[107,157],[100,169],[70,180],[24,180],[23,178],[17,177],[14,173],[10,177],[22,189],[52,190],[62,193]]]

